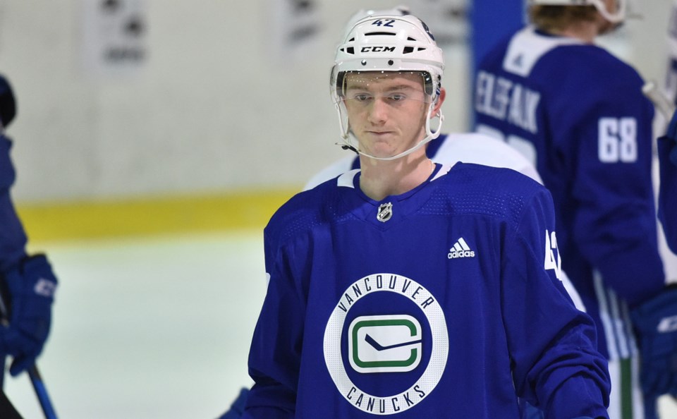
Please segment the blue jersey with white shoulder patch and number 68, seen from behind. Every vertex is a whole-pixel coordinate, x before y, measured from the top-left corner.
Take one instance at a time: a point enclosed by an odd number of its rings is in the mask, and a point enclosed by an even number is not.
[[[610,359],[636,350],[625,304],[665,282],[651,175],[654,110],[642,84],[604,49],[530,27],[501,42],[476,75],[477,130],[536,165],[554,200],[563,270]]]

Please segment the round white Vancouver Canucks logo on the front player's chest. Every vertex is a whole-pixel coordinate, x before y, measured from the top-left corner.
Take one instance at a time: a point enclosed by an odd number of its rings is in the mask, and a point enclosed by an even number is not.
[[[424,339],[425,324],[408,314],[350,315],[362,298],[374,298],[384,294],[405,298],[414,303],[425,315],[429,327],[430,341]],[[366,300],[365,300],[366,301]],[[404,303],[403,303],[404,304]],[[398,306],[396,304],[394,306]],[[419,317],[422,318],[422,317]],[[350,324],[346,328],[346,321]],[[344,329],[346,333],[346,351],[341,351]],[[426,347],[427,345],[427,347]],[[427,365],[424,363],[424,353]],[[366,413],[374,415],[393,415],[412,408],[437,387],[449,355],[449,335],[446,320],[437,299],[413,279],[395,274],[372,274],[355,281],[346,289],[341,300],[329,317],[324,331],[324,362],[331,379],[343,397]],[[344,362],[344,357],[348,362]],[[417,369],[422,363],[425,369]],[[350,368],[350,373],[346,370]],[[415,371],[419,370],[419,373]],[[403,391],[392,394],[372,394],[362,380],[361,386],[355,377],[384,377],[384,381],[393,381],[397,374],[412,374],[413,377],[399,377],[399,382],[407,382]]]

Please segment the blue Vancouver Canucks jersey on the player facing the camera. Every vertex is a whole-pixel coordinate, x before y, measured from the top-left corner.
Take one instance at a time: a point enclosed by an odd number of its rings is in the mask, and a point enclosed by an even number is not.
[[[264,230],[243,418],[517,419],[518,396],[606,418],[606,360],[558,279],[543,186],[458,163],[377,202],[359,177],[295,195]]]

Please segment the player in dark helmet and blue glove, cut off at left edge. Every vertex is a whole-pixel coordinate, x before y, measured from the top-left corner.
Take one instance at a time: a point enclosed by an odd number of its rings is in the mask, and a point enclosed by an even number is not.
[[[0,75],[0,354],[3,365],[4,356],[13,357],[13,376],[27,370],[42,352],[57,284],[47,257],[26,253],[26,234],[11,200],[16,174],[5,130],[15,115],[11,85]]]

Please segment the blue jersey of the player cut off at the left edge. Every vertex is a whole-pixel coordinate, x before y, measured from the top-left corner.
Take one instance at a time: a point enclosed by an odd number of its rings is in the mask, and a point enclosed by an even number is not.
[[[16,178],[9,155],[12,143],[0,134],[0,274],[25,256],[26,234],[11,200]]]

